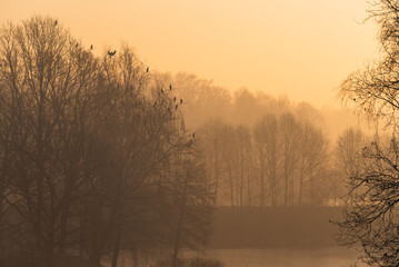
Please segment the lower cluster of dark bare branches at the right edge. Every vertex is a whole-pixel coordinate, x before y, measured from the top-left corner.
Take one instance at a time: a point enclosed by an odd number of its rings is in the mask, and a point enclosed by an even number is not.
[[[348,181],[353,204],[346,208],[346,220],[338,224],[339,241],[345,245],[360,243],[362,259],[372,266],[395,266],[399,258],[398,156],[396,139],[386,149],[375,142],[363,148],[366,162],[350,174]]]

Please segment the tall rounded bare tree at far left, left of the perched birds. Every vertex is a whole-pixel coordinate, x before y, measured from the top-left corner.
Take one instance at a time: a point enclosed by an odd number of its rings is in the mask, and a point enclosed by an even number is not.
[[[94,59],[77,43],[51,18],[33,17],[1,32],[0,78],[9,96],[3,132],[12,132],[13,154],[3,200],[27,224],[34,237],[29,255],[44,266],[67,241],[68,209],[81,181],[78,121],[83,95],[97,82]]]

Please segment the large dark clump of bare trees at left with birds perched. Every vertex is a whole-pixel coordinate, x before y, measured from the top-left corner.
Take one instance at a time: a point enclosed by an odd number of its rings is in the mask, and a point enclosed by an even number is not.
[[[0,265],[205,244],[212,192],[171,85],[132,50],[94,57],[57,20],[0,32]],[[136,257],[138,259],[138,257]]]

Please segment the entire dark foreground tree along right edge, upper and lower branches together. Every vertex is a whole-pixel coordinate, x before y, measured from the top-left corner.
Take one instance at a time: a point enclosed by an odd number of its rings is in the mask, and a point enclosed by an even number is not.
[[[370,118],[381,118],[392,127],[391,141],[376,140],[362,149],[362,160],[349,168],[353,205],[347,206],[339,222],[342,244],[362,246],[362,259],[371,266],[397,266],[398,231],[398,145],[396,121],[399,110],[399,2],[375,1],[370,17],[380,26],[382,60],[349,76],[341,97],[353,101]]]

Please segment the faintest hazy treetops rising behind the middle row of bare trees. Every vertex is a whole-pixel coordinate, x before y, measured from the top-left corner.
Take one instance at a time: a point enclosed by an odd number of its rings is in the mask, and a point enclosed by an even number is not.
[[[218,117],[233,125],[256,125],[265,113],[280,116],[292,112],[317,126],[330,127],[330,121],[323,121],[325,110],[313,108],[308,102],[292,102],[287,96],[278,98],[265,91],[251,91],[246,87],[229,90],[217,86],[212,80],[201,79],[194,75],[178,72],[156,73],[157,79],[176,86],[177,93],[188,103],[182,107],[187,126],[198,129],[210,118]],[[345,127],[339,127],[339,131]],[[332,127],[329,131],[336,132]],[[333,134],[331,137],[336,137]]]

